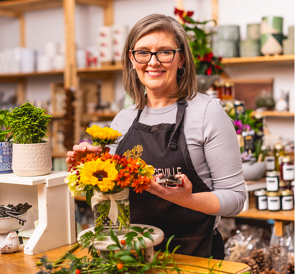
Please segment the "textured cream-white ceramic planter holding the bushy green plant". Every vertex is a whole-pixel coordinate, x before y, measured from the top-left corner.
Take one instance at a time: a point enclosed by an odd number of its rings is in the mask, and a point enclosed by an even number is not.
[[[41,176],[52,169],[51,146],[41,144],[13,144],[12,170],[17,176]]]

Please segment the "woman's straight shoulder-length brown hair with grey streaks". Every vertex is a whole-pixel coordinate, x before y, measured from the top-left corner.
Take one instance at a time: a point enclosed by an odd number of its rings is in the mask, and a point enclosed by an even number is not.
[[[194,58],[187,41],[186,31],[182,25],[172,18],[163,14],[152,14],[140,19],[131,29],[126,39],[122,54],[123,66],[123,82],[127,94],[135,101],[136,109],[143,109],[146,104],[146,98],[143,94],[142,83],[137,77],[136,72],[132,72],[132,62],[129,58],[129,50],[133,49],[136,42],[147,33],[153,31],[165,31],[173,35],[176,44],[181,49],[181,53],[185,56],[185,74],[183,77],[177,76],[179,90],[170,94],[169,98],[185,98],[191,100],[196,96],[197,81],[196,67]],[[182,72],[181,72],[182,73]],[[180,74],[181,74],[180,73]]]

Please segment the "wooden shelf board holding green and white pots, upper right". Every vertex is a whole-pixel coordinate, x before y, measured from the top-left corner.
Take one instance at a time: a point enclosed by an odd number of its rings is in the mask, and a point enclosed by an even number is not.
[[[256,57],[234,57],[223,58],[224,66],[237,64],[294,64],[294,54],[275,55],[275,56],[256,56]]]

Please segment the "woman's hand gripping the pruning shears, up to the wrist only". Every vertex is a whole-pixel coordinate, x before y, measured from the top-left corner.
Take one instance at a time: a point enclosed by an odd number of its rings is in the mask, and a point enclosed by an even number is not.
[[[192,199],[192,183],[188,177],[185,174],[176,175],[175,177],[183,179],[183,185],[169,187],[155,182],[157,177],[162,176],[163,174],[156,175],[154,180],[151,180],[149,189],[146,191],[187,208],[190,200]]]

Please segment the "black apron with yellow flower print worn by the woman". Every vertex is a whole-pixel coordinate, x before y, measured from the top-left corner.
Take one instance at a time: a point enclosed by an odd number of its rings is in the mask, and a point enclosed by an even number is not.
[[[187,102],[178,100],[175,124],[145,125],[138,122],[141,110],[121,140],[116,154],[141,158],[155,167],[155,175],[185,174],[192,182],[192,193],[211,191],[200,179],[191,161],[184,135],[184,113]],[[164,241],[155,250],[169,251],[181,245],[178,254],[209,258],[215,216],[181,207],[147,191],[130,191],[130,218],[133,224],[146,224],[164,231]]]

